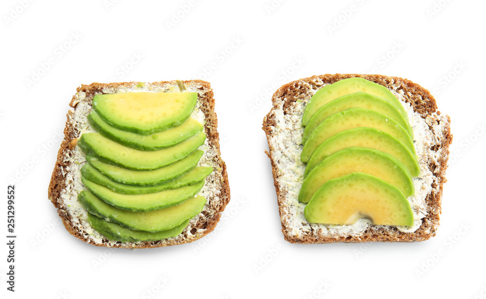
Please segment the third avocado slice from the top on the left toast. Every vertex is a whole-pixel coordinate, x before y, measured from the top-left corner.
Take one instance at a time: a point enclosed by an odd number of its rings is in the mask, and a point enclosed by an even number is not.
[[[206,134],[201,132],[172,147],[148,152],[125,147],[100,133],[86,133],[77,144],[87,155],[95,155],[102,162],[131,170],[153,170],[187,157],[205,140]]]

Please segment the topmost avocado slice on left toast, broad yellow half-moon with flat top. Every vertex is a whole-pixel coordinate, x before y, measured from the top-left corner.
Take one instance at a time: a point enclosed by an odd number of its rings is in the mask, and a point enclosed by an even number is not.
[[[196,101],[197,93],[97,94],[92,106],[110,126],[149,135],[182,124]]]

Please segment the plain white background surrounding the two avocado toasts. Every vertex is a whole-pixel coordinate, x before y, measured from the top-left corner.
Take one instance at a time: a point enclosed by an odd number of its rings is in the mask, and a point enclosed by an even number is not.
[[[17,247],[13,294],[0,245],[0,297],[484,298],[484,1],[108,1],[1,3],[0,235],[17,175]],[[262,119],[279,86],[326,73],[411,79],[450,115],[434,238],[283,239]],[[214,90],[231,187],[216,231],[138,251],[69,235],[47,187],[76,87],[196,78]]]

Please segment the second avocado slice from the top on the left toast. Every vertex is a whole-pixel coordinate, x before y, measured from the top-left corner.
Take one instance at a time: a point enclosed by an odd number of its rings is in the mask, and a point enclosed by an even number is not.
[[[151,135],[139,135],[110,126],[94,110],[88,114],[88,120],[91,126],[104,137],[141,151],[156,151],[171,147],[203,131],[203,126],[192,117],[180,126],[174,126]]]

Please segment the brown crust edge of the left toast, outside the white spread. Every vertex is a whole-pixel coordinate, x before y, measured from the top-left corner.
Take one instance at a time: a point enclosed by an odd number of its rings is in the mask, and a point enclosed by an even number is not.
[[[103,237],[101,243],[93,242],[89,238],[89,234],[86,231],[87,222],[83,225],[75,223],[73,216],[69,213],[69,209],[63,202],[61,192],[67,188],[66,176],[69,173],[69,160],[65,157],[70,157],[75,147],[76,139],[80,135],[80,131],[73,126],[73,116],[76,106],[78,104],[76,96],[72,97],[69,106],[74,110],[69,110],[67,114],[66,127],[64,129],[64,140],[61,142],[59,152],[57,154],[57,160],[55,162],[54,170],[52,172],[51,182],[48,189],[48,197],[52,204],[57,208],[57,213],[61,217],[64,226],[69,233],[78,239],[90,243],[96,246],[104,247],[116,247],[116,248],[155,248],[165,247],[171,245],[178,245],[184,243],[193,242],[214,230],[216,224],[221,218],[221,213],[224,211],[226,205],[230,200],[230,190],[228,184],[228,175],[226,172],[226,164],[221,159],[221,152],[219,146],[219,134],[217,131],[218,120],[214,111],[214,97],[210,84],[202,80],[187,80],[183,81],[186,86],[195,87],[203,91],[202,95],[199,94],[198,101],[201,102],[200,109],[204,112],[206,123],[204,125],[204,131],[207,135],[209,148],[216,152],[214,172],[218,172],[221,175],[220,182],[206,182],[206,184],[217,184],[220,187],[220,195],[213,198],[207,198],[207,203],[203,211],[190,221],[191,232],[188,228],[176,237],[168,238],[160,241],[145,241],[145,242],[110,242],[110,240]],[[77,88],[77,93],[85,93],[86,100],[91,102],[92,98],[96,94],[104,94],[104,90],[120,87],[133,88],[141,82],[121,82],[121,83],[92,83],[89,85],[81,85]],[[152,86],[166,86],[176,85],[176,81],[159,81],[154,83],[147,83]],[[77,196],[77,194],[70,194],[71,196]],[[197,232],[197,233],[196,233]],[[192,233],[196,233],[193,235]]]

